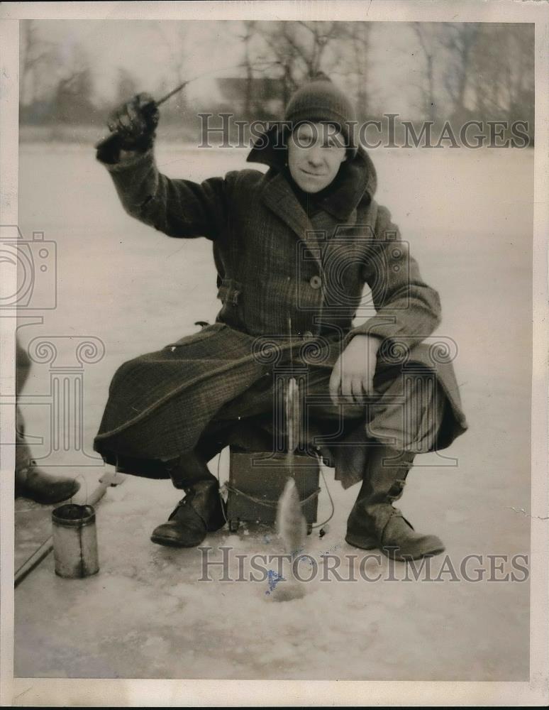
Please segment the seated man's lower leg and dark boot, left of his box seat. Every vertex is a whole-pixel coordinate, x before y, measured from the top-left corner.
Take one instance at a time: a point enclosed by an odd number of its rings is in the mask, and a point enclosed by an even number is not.
[[[150,539],[167,547],[196,547],[208,532],[215,532],[226,523],[219,484],[206,464],[194,454],[170,463],[167,469],[172,483],[186,495],[177,503],[167,523],[153,530]]]

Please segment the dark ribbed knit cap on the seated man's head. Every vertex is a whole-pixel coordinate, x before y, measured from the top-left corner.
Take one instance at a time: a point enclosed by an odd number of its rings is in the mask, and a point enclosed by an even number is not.
[[[336,124],[351,157],[356,155],[355,107],[326,75],[319,75],[295,92],[286,107],[284,121],[292,127],[303,121]]]

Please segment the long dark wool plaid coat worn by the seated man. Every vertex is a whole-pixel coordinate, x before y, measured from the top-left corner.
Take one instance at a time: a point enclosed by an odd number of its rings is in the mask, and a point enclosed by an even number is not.
[[[422,344],[440,322],[438,293],[375,202],[367,153],[343,163],[308,214],[275,151],[270,141],[248,157],[270,165],[267,173],[239,170],[201,184],[161,175],[153,151],[106,164],[132,217],[175,238],[212,241],[221,300],[216,323],[118,369],[94,442],[106,461],[126,458],[129,472],[162,476],[155,461],[203,444],[223,405],[270,383],[290,352],[329,372],[358,333],[383,339],[379,371],[415,363],[436,373],[445,396],[436,448],[467,428],[451,362]],[[345,471],[337,476],[353,482]]]

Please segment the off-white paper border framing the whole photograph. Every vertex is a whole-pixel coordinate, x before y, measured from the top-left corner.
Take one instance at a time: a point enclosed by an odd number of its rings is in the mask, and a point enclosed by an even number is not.
[[[304,0],[204,2],[6,2],[0,6],[0,220],[17,224],[18,20],[338,19],[527,22],[536,26],[536,147],[533,224],[531,488],[531,672],[529,682],[231,681],[13,679],[13,447],[1,456],[0,703],[60,706],[511,706],[549,701],[548,392],[549,13],[513,0]],[[13,281],[0,285],[13,293]],[[10,290],[11,288],[11,290]],[[13,378],[15,319],[0,318],[0,381]],[[7,411],[6,411],[7,410]],[[13,432],[14,412],[0,408]],[[222,684],[222,685],[221,685]],[[222,688],[222,692],[220,689]]]

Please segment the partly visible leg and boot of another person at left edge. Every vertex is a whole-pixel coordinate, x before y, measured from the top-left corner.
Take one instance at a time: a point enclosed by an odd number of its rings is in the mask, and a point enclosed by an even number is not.
[[[17,342],[16,352],[16,394],[19,395],[28,378],[30,359],[25,349]],[[66,501],[80,488],[74,479],[51,476],[36,466],[25,440],[25,422],[16,406],[16,465],[15,496],[30,498],[35,503],[51,505]]]

